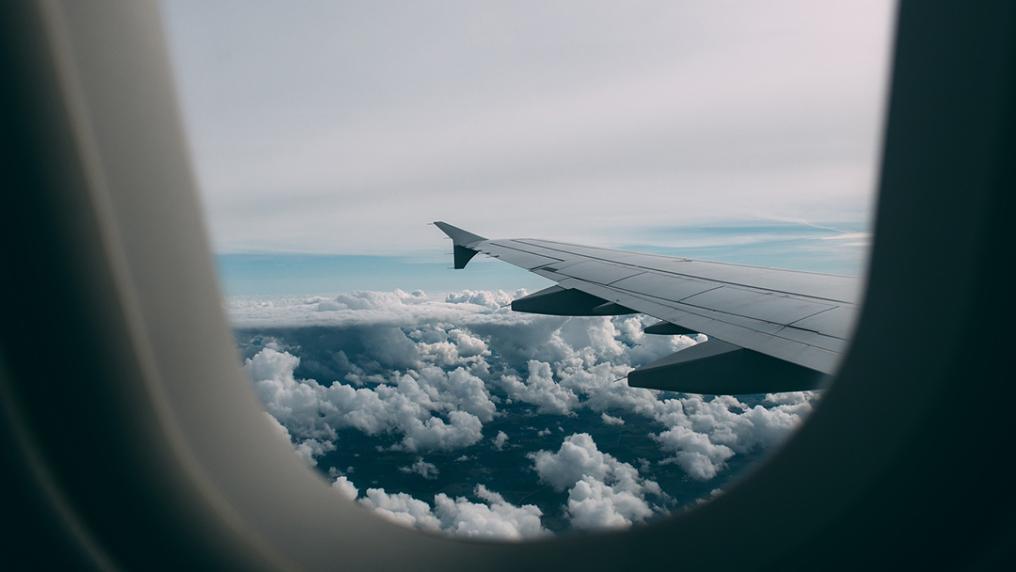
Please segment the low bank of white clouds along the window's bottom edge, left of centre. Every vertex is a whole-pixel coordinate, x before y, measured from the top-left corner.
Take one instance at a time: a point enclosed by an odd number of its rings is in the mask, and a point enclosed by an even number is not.
[[[332,483],[340,494],[355,499],[359,491],[344,476]],[[405,493],[368,489],[359,502],[394,522],[424,530],[443,530],[461,536],[521,539],[547,533],[535,505],[517,506],[483,485],[473,488],[480,502],[464,497],[434,496],[434,506]]]

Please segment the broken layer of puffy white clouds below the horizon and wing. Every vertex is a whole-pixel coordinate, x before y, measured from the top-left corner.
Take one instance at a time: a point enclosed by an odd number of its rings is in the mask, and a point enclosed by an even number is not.
[[[646,335],[642,327],[651,320],[637,316],[518,314],[505,307],[508,300],[497,292],[438,299],[353,293],[234,302],[231,311],[237,322],[261,326],[248,336],[256,342],[245,346],[245,368],[279,433],[311,464],[334,451],[345,431],[385,437],[388,444],[378,447],[415,454],[399,471],[432,481],[442,478],[440,465],[425,459],[432,454],[469,460],[455,452],[518,447],[504,430],[508,415],[522,415],[521,424],[525,416],[568,420],[588,412],[613,432],[626,430],[626,418],[655,428],[649,441],[655,461],[618,459],[582,431],[557,433],[563,441],[556,450],[530,449],[532,482],[566,497],[563,514],[574,527],[626,526],[665,513],[673,499],[640,469],[655,463],[708,482],[739,455],[778,444],[811,410],[810,392],[745,400],[631,388],[623,378],[633,367],[701,338]],[[264,329],[273,321],[280,325]],[[531,431],[555,443],[552,428]],[[347,480],[335,486],[359,497]],[[473,496],[479,502],[439,494],[429,504],[371,488],[360,502],[427,529],[506,537],[543,532],[534,505],[535,512],[512,505],[481,486]]]

